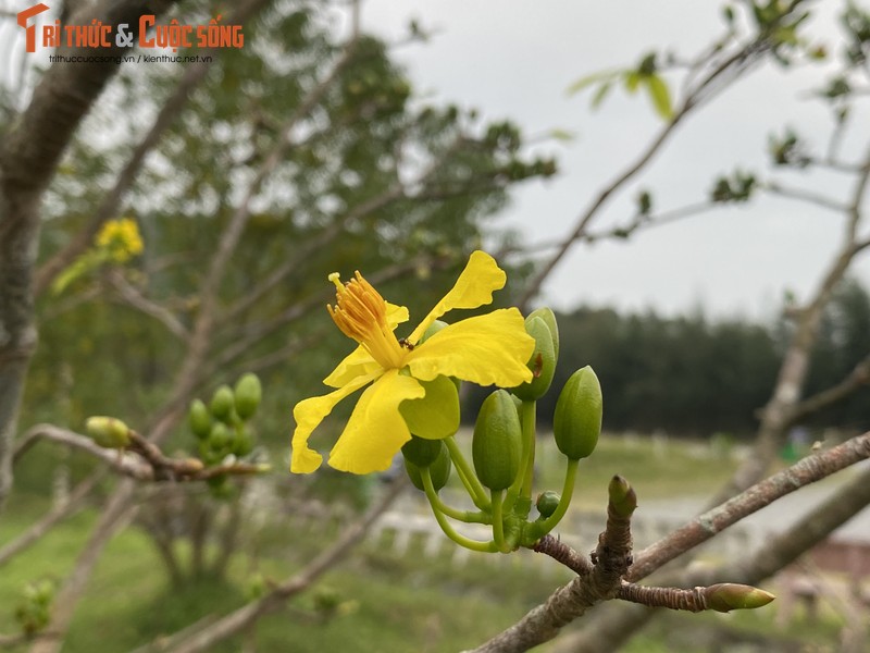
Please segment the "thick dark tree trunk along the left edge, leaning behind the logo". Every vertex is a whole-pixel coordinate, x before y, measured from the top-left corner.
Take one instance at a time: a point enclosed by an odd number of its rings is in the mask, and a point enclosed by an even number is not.
[[[146,13],[160,14],[172,0],[103,0],[88,8],[104,25],[138,25]],[[105,54],[117,53],[110,48]],[[85,49],[61,48],[67,56]],[[24,377],[36,347],[32,288],[39,206],[73,133],[107,83],[114,63],[52,65],[30,104],[0,143],[0,510],[12,485],[12,441]]]

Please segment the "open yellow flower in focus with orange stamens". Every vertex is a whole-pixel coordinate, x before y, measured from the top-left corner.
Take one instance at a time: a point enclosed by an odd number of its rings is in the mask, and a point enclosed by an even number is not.
[[[407,308],[386,303],[359,272],[344,285],[337,273],[331,274],[330,280],[337,288],[335,307],[327,307],[330,315],[359,347],[324,379],[336,391],[299,402],[294,408],[293,472],[308,473],[320,467],[323,457],[308,446],[309,436],[338,402],[370,383],[330,454],[330,465],[336,469],[370,473],[389,467],[401,445],[411,438],[399,406],[402,402],[428,397],[430,392],[435,405],[426,410],[432,411],[432,423],[437,422],[439,378],[456,377],[501,387],[513,387],[532,379],[526,362],[535,343],[525,332],[523,317],[515,308],[448,324],[420,343],[444,313],[490,304],[493,292],[505,286],[507,275],[488,254],[471,255],[452,289],[402,341],[393,332],[408,320]],[[419,407],[423,406],[425,402]],[[451,435],[452,431],[435,429],[414,434],[437,439]]]

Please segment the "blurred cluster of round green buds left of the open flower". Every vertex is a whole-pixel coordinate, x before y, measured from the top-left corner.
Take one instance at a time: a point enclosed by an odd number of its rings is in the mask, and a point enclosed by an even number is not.
[[[235,387],[221,385],[211,402],[190,403],[187,419],[190,432],[199,441],[199,455],[211,467],[227,458],[243,458],[253,451],[253,433],[248,422],[262,399],[262,386],[256,374],[244,374]],[[225,476],[209,479],[215,495],[228,492]]]

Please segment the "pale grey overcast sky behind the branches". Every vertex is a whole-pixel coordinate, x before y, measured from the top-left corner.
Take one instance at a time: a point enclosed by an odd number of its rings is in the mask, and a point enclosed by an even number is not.
[[[838,49],[832,10],[841,3],[815,5],[826,15],[811,32]],[[557,156],[559,176],[525,185],[505,212],[525,241],[537,243],[569,233],[591,198],[660,127],[643,96],[614,90],[593,112],[588,95],[569,97],[567,87],[588,73],[634,64],[652,48],[695,53],[718,34],[720,8],[697,0],[365,0],[362,22],[390,40],[408,34],[410,19],[438,30],[426,45],[396,51],[428,97],[475,107],[487,119],[509,118],[529,136],[552,128],[576,134],[571,143],[543,147]],[[783,125],[823,148],[829,110],[808,99],[807,90],[825,78],[824,66],[757,71],[689,118],[648,173],[609,205],[601,224],[627,219],[639,187],[655,192],[657,207],[672,208],[704,199],[720,173],[766,170],[768,135]],[[857,130],[852,151],[866,147],[868,136],[870,130]],[[836,181],[821,176],[787,180],[835,193]],[[841,232],[835,213],[765,199],[638,233],[627,243],[579,246],[549,278],[543,300],[559,308],[592,303],[668,313],[703,305],[713,316],[770,318],[786,288],[803,297],[812,287]],[[870,283],[870,260],[855,272]]]

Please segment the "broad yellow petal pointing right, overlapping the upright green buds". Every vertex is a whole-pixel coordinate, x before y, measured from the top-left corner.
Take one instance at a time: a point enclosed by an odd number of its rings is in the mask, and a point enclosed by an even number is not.
[[[513,387],[532,380],[526,367],[534,338],[515,308],[494,310],[448,324],[406,358],[411,375],[430,381],[438,374],[478,385]]]

